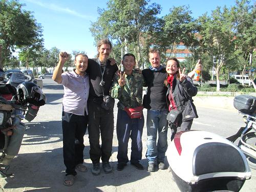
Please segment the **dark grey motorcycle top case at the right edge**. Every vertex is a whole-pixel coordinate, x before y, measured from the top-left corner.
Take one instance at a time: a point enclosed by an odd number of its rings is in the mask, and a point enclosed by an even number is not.
[[[234,97],[234,108],[245,114],[256,113],[256,97],[252,95],[238,95]]]

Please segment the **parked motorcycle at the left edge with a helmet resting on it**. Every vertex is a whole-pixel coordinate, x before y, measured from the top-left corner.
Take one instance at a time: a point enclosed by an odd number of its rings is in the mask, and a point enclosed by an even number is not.
[[[21,120],[32,121],[39,106],[46,103],[41,89],[20,77],[20,74],[16,78],[12,74],[14,82],[0,83],[0,174],[4,177],[12,175],[7,173],[9,164],[18,154],[26,130]]]

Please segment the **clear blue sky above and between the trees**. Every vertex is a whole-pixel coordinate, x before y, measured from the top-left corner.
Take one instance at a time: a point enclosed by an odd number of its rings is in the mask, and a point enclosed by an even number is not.
[[[89,57],[95,57],[97,49],[94,46],[94,38],[89,30],[91,22],[95,22],[99,16],[97,8],[105,8],[107,0],[95,1],[68,1],[68,0],[23,0],[26,4],[23,9],[33,12],[37,23],[42,26],[44,43],[47,49],[57,47],[61,51],[69,53],[72,50],[85,51]],[[173,6],[189,5],[197,18],[203,13],[211,13],[217,6],[227,7],[236,4],[235,0],[159,0],[151,1],[162,7],[160,16],[168,14]]]

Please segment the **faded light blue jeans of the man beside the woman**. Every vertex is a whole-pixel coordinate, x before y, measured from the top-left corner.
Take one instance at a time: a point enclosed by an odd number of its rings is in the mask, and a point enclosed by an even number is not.
[[[167,150],[168,111],[147,110],[147,152],[146,158],[149,163],[164,162]],[[158,141],[157,141],[158,132]]]

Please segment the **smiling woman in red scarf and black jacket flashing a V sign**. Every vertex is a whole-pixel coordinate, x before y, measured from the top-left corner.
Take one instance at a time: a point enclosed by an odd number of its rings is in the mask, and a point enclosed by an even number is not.
[[[197,87],[194,86],[193,80],[184,74],[185,68],[181,72],[180,63],[175,57],[167,60],[166,72],[167,78],[164,83],[168,88],[166,94],[168,110],[169,112],[176,110],[173,111],[174,114],[179,114],[175,122],[169,121],[172,131],[171,140],[173,140],[177,132],[190,130],[193,119],[198,118],[192,99],[197,95]]]

